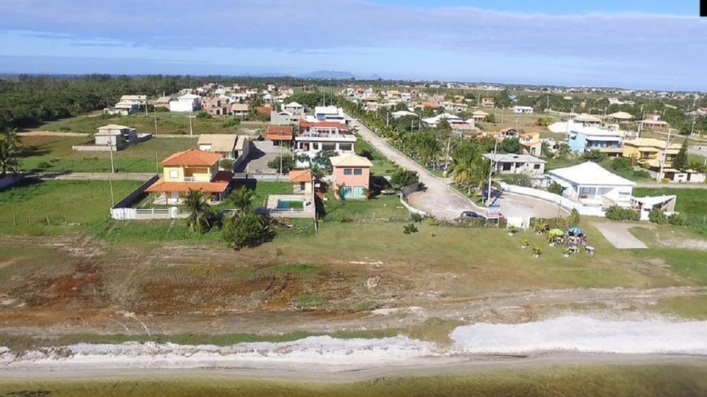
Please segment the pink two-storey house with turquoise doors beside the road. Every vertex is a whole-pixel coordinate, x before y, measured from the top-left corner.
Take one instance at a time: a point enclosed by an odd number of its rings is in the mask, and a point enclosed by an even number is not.
[[[366,198],[373,163],[355,153],[329,158],[334,169],[334,188],[341,198]]]

